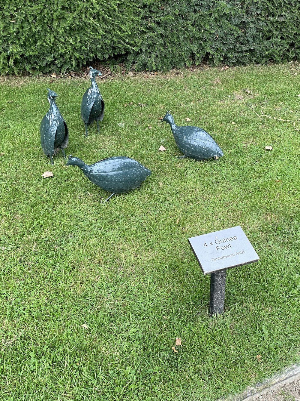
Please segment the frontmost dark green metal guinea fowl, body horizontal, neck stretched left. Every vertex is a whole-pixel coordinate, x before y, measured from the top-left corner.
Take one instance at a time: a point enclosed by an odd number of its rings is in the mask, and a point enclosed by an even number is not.
[[[70,155],[66,165],[78,166],[93,184],[113,192],[105,202],[114,194],[137,188],[151,174],[148,168],[125,156],[109,157],[89,166],[78,157]]]

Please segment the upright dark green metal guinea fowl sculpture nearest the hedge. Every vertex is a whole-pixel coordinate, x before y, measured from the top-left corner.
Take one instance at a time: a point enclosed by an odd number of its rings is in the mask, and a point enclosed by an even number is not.
[[[102,74],[92,67],[89,68],[92,85],[85,91],[80,106],[81,118],[86,128],[86,136],[88,136],[88,125],[94,121],[97,122],[97,130],[99,132],[98,122],[102,121],[104,117],[104,101],[96,83],[96,76],[101,76]]]

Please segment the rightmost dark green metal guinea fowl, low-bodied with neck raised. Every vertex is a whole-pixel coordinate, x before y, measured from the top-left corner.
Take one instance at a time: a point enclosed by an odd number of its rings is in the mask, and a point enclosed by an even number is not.
[[[202,130],[202,128],[183,126],[178,127],[174,123],[174,118],[170,111],[162,118],[161,122],[166,121],[170,124],[172,134],[176,145],[184,157],[190,157],[195,160],[205,160],[210,158],[219,158],[223,156],[222,150],[212,139],[210,134]]]

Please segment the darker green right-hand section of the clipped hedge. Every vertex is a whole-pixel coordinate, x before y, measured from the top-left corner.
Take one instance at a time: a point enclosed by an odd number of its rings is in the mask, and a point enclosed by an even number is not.
[[[138,69],[170,69],[209,60],[247,64],[300,55],[300,2],[148,1],[141,10]]]

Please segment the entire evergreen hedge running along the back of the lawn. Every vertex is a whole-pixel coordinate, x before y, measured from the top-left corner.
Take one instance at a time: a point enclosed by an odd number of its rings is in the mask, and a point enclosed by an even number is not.
[[[298,0],[2,0],[0,73],[300,58]]]

